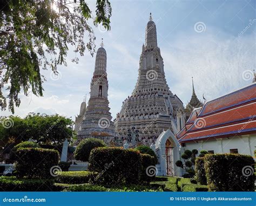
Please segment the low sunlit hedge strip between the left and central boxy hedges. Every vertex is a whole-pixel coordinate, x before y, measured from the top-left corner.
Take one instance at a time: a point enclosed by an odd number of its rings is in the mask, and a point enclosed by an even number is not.
[[[84,184],[88,183],[90,178],[95,178],[95,173],[90,171],[63,171],[55,178],[57,183],[65,184]]]

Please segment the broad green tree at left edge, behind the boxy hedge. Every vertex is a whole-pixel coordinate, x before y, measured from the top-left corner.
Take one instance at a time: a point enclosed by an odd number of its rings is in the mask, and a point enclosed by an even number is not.
[[[65,139],[70,140],[74,133],[73,121],[58,114],[29,113],[24,119],[9,116],[0,120],[0,136],[3,140],[13,137],[15,142],[21,142],[31,138],[39,144],[58,146],[62,145]],[[8,121],[11,125],[7,125]]]

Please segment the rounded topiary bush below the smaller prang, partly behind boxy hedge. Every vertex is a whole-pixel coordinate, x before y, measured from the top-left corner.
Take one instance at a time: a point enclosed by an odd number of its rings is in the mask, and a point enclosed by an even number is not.
[[[96,138],[82,140],[75,150],[74,157],[76,160],[87,162],[89,161],[91,150],[97,147],[106,147],[106,144]]]

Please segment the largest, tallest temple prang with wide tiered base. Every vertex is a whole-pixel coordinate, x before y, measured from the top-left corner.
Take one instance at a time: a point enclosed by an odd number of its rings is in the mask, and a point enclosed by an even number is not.
[[[137,131],[136,142],[150,146],[167,129],[177,130],[176,114],[183,102],[173,95],[166,83],[164,62],[157,45],[157,29],[151,14],[146,26],[145,45],[139,60],[137,84],[123,102],[114,120],[118,139],[130,145],[131,129]]]

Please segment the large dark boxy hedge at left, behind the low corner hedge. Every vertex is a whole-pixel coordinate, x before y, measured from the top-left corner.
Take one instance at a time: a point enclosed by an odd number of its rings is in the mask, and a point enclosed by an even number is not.
[[[17,177],[52,178],[52,167],[59,161],[59,153],[53,149],[19,148],[17,155]]]

